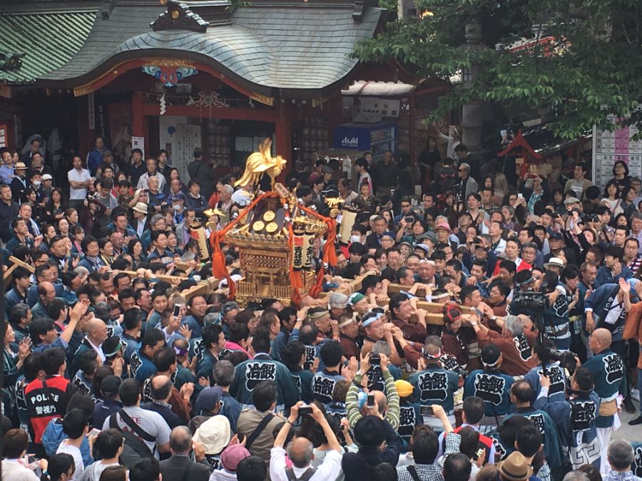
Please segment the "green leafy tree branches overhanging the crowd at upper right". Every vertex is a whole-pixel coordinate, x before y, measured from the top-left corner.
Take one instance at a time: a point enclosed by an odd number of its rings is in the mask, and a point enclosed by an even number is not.
[[[397,59],[418,76],[451,76],[456,84],[432,118],[473,100],[532,110],[554,120],[562,138],[607,115],[630,118],[642,131],[642,2],[639,0],[417,0],[419,18],[397,19],[360,43],[362,61]],[[464,25],[481,26],[486,48],[471,48]],[[430,120],[430,119],[428,119]]]

